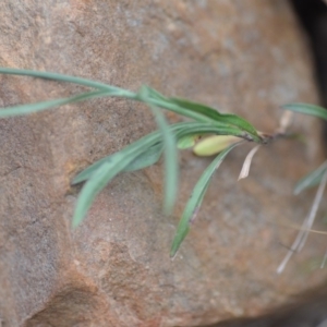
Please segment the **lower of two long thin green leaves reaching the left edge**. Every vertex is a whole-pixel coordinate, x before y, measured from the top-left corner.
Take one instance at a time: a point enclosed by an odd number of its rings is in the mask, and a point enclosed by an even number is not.
[[[8,107],[0,109],[0,118],[7,118],[7,117],[14,117],[14,116],[22,116],[32,112],[38,112],[43,110],[47,110],[53,107],[73,104],[77,101],[83,101],[86,99],[102,97],[105,95],[108,95],[108,92],[104,90],[94,90],[94,92],[87,92],[83,94],[78,94],[72,97],[68,98],[61,98],[56,100],[48,100],[43,102],[36,102],[36,104],[28,104],[28,105],[19,105],[13,107]]]

